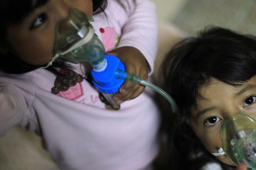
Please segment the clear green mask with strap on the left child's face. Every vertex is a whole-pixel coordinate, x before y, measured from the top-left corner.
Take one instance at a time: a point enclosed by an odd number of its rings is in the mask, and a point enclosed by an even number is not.
[[[53,61],[69,61],[74,64],[86,61],[95,72],[101,72],[107,67],[105,49],[101,40],[94,33],[90,24],[92,18],[78,9],[71,9],[68,18],[57,23],[54,43],[54,57],[45,66],[51,66]]]

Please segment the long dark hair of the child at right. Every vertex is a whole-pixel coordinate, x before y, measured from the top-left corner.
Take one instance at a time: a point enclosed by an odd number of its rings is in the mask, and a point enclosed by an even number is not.
[[[178,112],[171,113],[166,101],[161,101],[163,129],[169,135],[162,165],[166,169],[196,170],[206,163],[219,162],[206,151],[192,130],[188,121],[190,108],[196,106],[196,98],[202,98],[199,88],[208,84],[210,78],[239,86],[256,75],[256,37],[208,27],[198,36],[176,44],[162,68],[163,89],[178,107]],[[233,169],[220,164],[224,169]]]

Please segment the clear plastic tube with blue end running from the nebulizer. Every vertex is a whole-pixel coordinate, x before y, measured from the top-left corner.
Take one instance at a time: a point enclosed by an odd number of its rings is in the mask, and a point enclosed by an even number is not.
[[[137,84],[142,84],[142,85],[148,86],[149,88],[152,88],[156,92],[163,95],[163,97],[165,97],[169,101],[169,103],[171,104],[172,111],[176,112],[177,106],[176,106],[176,103],[173,100],[173,98],[169,94],[167,94],[167,92],[165,92],[163,89],[159,88],[158,86],[156,86],[156,85],[154,85],[154,84],[152,84],[148,81],[145,81],[145,80],[143,80],[142,78],[140,78],[138,76],[132,75],[132,74],[127,73],[127,72],[123,72],[122,70],[117,70],[116,73],[115,73],[115,77],[117,79],[125,79],[125,80],[128,80],[128,81],[132,81],[132,82],[135,82]]]

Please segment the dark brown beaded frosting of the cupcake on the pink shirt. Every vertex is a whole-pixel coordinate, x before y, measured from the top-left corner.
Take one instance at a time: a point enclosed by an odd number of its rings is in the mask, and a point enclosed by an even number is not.
[[[60,91],[66,91],[70,86],[74,86],[77,82],[83,81],[83,76],[72,70],[60,69],[61,75],[57,76],[54,87],[51,89],[53,94],[58,94]]]

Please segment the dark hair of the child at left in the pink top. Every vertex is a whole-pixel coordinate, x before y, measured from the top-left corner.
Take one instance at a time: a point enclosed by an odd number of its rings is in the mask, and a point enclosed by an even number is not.
[[[1,0],[0,1],[0,48],[11,48],[5,40],[6,28],[8,25],[18,24],[21,22],[33,9],[47,3],[48,0]],[[107,0],[92,0],[93,14],[104,12],[107,7]],[[15,52],[9,50],[7,54],[0,53],[0,71],[11,74],[21,74],[38,69],[41,66],[32,66],[22,61]],[[58,74],[56,68],[70,68],[65,63],[53,63],[48,67],[53,73]]]

